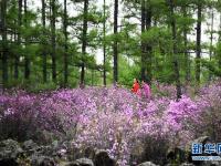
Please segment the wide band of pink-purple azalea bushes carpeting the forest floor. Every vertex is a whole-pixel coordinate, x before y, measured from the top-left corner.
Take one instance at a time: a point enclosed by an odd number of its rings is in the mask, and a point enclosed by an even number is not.
[[[80,151],[106,149],[119,165],[159,163],[168,147],[202,134],[220,138],[219,83],[192,98],[183,94],[179,102],[173,86],[159,87],[166,95],[151,98],[119,87],[6,93],[0,96],[0,137],[42,139],[40,133],[48,132],[53,138],[69,138]]]

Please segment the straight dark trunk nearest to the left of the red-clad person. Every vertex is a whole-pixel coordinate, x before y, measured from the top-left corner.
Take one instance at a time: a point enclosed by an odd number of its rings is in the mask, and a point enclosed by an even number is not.
[[[118,0],[114,3],[114,84],[118,81],[118,45],[117,45],[117,27],[118,27]]]

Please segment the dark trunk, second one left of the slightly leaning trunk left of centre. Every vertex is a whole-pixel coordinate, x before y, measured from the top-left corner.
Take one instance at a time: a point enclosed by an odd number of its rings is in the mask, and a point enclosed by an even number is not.
[[[51,18],[51,31],[52,31],[52,80],[56,82],[56,41],[55,41],[55,0],[51,0],[52,18]]]

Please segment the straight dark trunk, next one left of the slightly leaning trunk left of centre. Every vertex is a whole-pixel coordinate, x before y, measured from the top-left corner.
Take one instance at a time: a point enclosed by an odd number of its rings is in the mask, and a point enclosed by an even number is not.
[[[66,0],[64,0],[64,86],[67,85],[69,79],[69,64],[67,64],[67,11]]]

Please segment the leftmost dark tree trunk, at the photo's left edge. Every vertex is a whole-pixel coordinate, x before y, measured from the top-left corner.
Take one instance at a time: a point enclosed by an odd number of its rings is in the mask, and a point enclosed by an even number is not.
[[[1,24],[2,24],[2,81],[3,86],[8,83],[8,56],[7,56],[7,0],[1,1]]]

